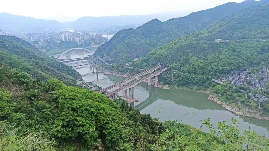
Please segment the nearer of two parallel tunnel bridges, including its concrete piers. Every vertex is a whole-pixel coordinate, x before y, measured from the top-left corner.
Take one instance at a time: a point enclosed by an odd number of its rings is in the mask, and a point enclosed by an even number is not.
[[[126,84],[126,85],[122,86],[121,88],[116,89],[116,90],[114,90],[112,92],[109,92],[109,93],[107,93],[105,95],[115,100],[116,95],[120,91],[122,91],[123,97],[127,97],[127,89],[129,89],[129,98],[134,98],[134,89],[133,89],[134,86],[136,86],[140,82],[142,82],[144,80],[147,80],[147,79],[148,79],[148,85],[151,85],[153,78],[154,78],[154,85],[158,86],[158,75],[161,74],[162,72],[164,72],[165,70],[167,70],[167,67],[163,68],[161,70],[158,70],[158,71],[156,71],[154,73],[151,73],[151,74],[149,74],[149,75],[147,75],[145,77],[142,77],[139,80],[136,80],[134,82]]]

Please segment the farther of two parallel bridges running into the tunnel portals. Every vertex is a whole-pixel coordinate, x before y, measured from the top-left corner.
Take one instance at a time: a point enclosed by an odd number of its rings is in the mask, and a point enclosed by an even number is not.
[[[107,87],[107,88],[104,88],[104,89],[102,89],[102,90],[100,90],[100,91],[98,91],[98,92],[99,92],[99,93],[102,93],[102,92],[108,92],[109,90],[115,89],[115,88],[117,88],[117,87],[124,86],[124,85],[128,84],[129,82],[133,81],[134,79],[138,79],[139,77],[141,77],[141,76],[143,76],[143,75],[152,73],[153,71],[159,69],[161,66],[162,66],[162,65],[152,67],[152,68],[150,68],[150,69],[148,69],[148,70],[146,70],[146,71],[143,71],[143,72],[141,72],[141,73],[139,73],[139,74],[136,74],[136,75],[134,75],[134,76],[132,76],[132,77],[130,77],[130,78],[127,78],[127,79],[125,79],[125,80],[123,80],[123,81],[121,81],[121,82],[118,82],[118,83],[116,83],[116,84],[114,84],[114,85],[111,85],[111,86],[109,86],[109,87]]]

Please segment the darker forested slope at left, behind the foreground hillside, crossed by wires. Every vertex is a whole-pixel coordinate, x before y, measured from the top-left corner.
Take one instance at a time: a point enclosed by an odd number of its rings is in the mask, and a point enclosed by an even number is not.
[[[67,85],[75,85],[76,79],[81,78],[81,75],[73,68],[52,59],[30,43],[17,37],[13,38],[0,35],[0,40],[3,41],[0,41],[0,64],[4,63],[12,68],[21,69],[39,80],[49,80],[54,77]]]

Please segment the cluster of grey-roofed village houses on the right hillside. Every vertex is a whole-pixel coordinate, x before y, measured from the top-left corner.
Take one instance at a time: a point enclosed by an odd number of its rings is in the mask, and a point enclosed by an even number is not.
[[[224,76],[220,81],[237,86],[244,85],[249,87],[250,90],[266,90],[268,82],[267,68],[263,66],[257,75],[250,73],[250,71],[251,69],[246,69],[246,71],[234,70],[231,71],[229,76]]]

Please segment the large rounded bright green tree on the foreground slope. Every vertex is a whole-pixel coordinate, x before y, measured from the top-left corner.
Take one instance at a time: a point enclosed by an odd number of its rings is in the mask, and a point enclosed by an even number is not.
[[[106,146],[121,140],[121,113],[115,103],[93,90],[66,87],[55,94],[59,102],[59,117],[53,132],[61,138],[81,138],[93,145],[97,137],[104,137]]]

